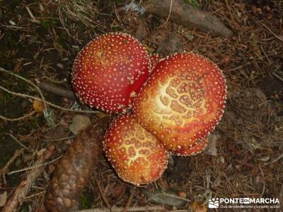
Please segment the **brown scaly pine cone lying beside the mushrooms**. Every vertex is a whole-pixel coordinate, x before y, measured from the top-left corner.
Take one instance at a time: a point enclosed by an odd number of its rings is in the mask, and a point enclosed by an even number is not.
[[[64,212],[77,208],[79,195],[103,153],[104,123],[99,122],[83,130],[57,163],[45,199],[47,211]]]

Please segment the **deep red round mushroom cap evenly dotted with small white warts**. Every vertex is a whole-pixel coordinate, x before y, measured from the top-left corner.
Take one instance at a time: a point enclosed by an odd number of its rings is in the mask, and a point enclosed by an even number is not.
[[[149,54],[131,35],[108,33],[76,56],[72,83],[79,98],[104,112],[123,112],[149,76]]]

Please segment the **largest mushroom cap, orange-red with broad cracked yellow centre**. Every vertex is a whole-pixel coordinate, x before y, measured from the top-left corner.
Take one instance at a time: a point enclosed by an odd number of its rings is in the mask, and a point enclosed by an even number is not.
[[[176,155],[195,155],[219,123],[226,102],[221,70],[209,59],[177,53],[160,61],[134,101],[137,121]]]

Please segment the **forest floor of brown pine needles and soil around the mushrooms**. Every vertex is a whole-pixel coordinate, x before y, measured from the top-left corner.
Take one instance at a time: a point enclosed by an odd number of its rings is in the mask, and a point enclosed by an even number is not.
[[[105,208],[105,199],[110,206],[124,207],[130,199],[132,207],[207,211],[211,197],[250,197],[278,198],[283,210],[283,2],[187,2],[219,18],[233,30],[233,37],[212,37],[151,14],[125,10],[125,1],[0,1],[0,67],[33,83],[49,82],[71,90],[71,67],[79,49],[108,32],[131,34],[149,52],[163,56],[183,50],[197,52],[224,72],[228,100],[224,117],[213,132],[212,151],[187,158],[173,156],[161,179],[145,187],[122,182],[105,159],[81,195],[79,209]],[[9,196],[25,177],[25,171],[9,172],[33,165],[38,152],[50,143],[46,140],[69,136],[52,141],[56,153],[51,159],[67,149],[74,136],[66,120],[77,113],[52,107],[56,117],[52,129],[32,99],[15,95],[40,97],[30,83],[0,70],[0,86],[14,92],[0,89],[0,167],[18,153],[0,177],[3,202],[4,192]],[[74,105],[74,100],[42,92],[55,105]],[[23,118],[8,120],[18,117]],[[35,211],[44,202],[55,163],[47,165],[18,211]],[[165,203],[149,198],[158,192]],[[172,206],[176,199],[180,204]],[[261,210],[276,209],[246,209]]]

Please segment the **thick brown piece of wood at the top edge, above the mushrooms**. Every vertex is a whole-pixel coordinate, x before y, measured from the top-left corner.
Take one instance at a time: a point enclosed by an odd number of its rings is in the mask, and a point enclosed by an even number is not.
[[[211,14],[186,4],[183,0],[151,0],[144,5],[148,13],[168,18],[175,23],[197,28],[213,36],[231,37],[233,32]]]

